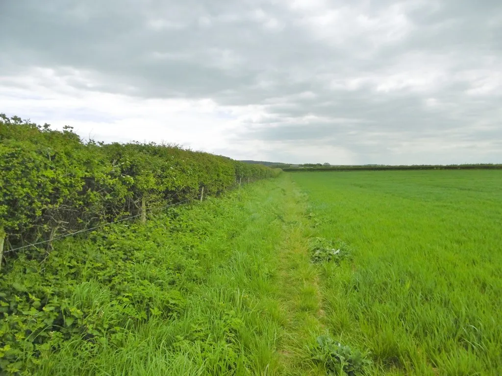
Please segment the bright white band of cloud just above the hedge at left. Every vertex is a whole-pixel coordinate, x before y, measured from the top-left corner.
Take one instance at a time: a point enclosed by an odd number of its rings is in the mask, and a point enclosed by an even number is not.
[[[83,80],[79,72],[74,73],[72,80]],[[209,98],[142,99],[80,91],[66,84],[69,78],[58,77],[53,71],[35,70],[32,74],[39,79],[9,79],[11,85],[17,83],[26,88],[9,87],[7,80],[0,79],[3,111],[30,116],[32,121],[41,123],[50,121],[58,129],[71,125],[84,138],[90,136],[107,142],[165,141],[216,151],[236,119],[242,116]],[[87,85],[87,81],[83,82]],[[33,92],[37,95],[33,96]]]

